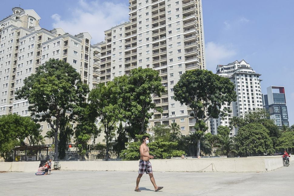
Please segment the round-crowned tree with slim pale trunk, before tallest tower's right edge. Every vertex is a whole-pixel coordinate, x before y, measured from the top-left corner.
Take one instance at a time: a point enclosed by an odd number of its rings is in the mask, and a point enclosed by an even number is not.
[[[206,122],[210,118],[227,115],[228,108],[219,108],[225,102],[236,101],[234,88],[229,78],[200,69],[186,71],[174,86],[175,100],[190,107],[193,111],[190,116],[196,120],[197,156],[200,155],[201,139],[208,128]]]

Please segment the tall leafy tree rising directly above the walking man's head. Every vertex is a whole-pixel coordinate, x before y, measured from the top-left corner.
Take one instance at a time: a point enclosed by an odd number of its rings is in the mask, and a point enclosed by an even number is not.
[[[161,96],[165,92],[162,86],[159,72],[151,68],[132,69],[129,76],[116,77],[114,82],[121,89],[121,97],[124,102],[125,119],[131,125],[128,128],[129,135],[137,141],[136,134],[143,134],[147,128],[147,122],[153,113],[151,109],[162,112],[161,107],[156,107],[152,98]]]

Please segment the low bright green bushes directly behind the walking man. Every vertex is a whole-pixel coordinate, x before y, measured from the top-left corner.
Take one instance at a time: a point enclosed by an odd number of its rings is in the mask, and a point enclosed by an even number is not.
[[[138,141],[127,143],[127,149],[121,152],[121,158],[124,161],[139,160],[140,159],[140,145],[142,144],[140,138],[142,135],[137,135]],[[151,141],[148,144],[149,154],[154,156],[154,159],[165,159],[170,157],[179,157],[185,154],[185,151],[176,150],[178,143],[171,141]]]

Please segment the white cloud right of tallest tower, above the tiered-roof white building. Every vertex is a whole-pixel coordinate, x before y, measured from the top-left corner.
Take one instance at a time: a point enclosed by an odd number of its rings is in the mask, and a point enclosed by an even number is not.
[[[206,68],[215,73],[216,66],[235,61],[232,59],[236,51],[228,46],[207,42],[205,44]]]

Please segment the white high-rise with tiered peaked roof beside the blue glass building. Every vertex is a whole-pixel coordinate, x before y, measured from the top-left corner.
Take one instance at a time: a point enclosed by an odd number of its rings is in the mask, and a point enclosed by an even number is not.
[[[235,85],[237,101],[231,104],[226,103],[223,107],[229,108],[232,112],[224,118],[212,118],[210,128],[212,134],[217,134],[219,126],[229,127],[233,116],[244,117],[248,111],[255,111],[256,108],[262,108],[262,94],[260,82],[262,81],[246,61],[235,61],[228,65],[217,65],[216,74],[221,77],[227,77]],[[232,128],[230,136],[237,134],[237,129]]]

